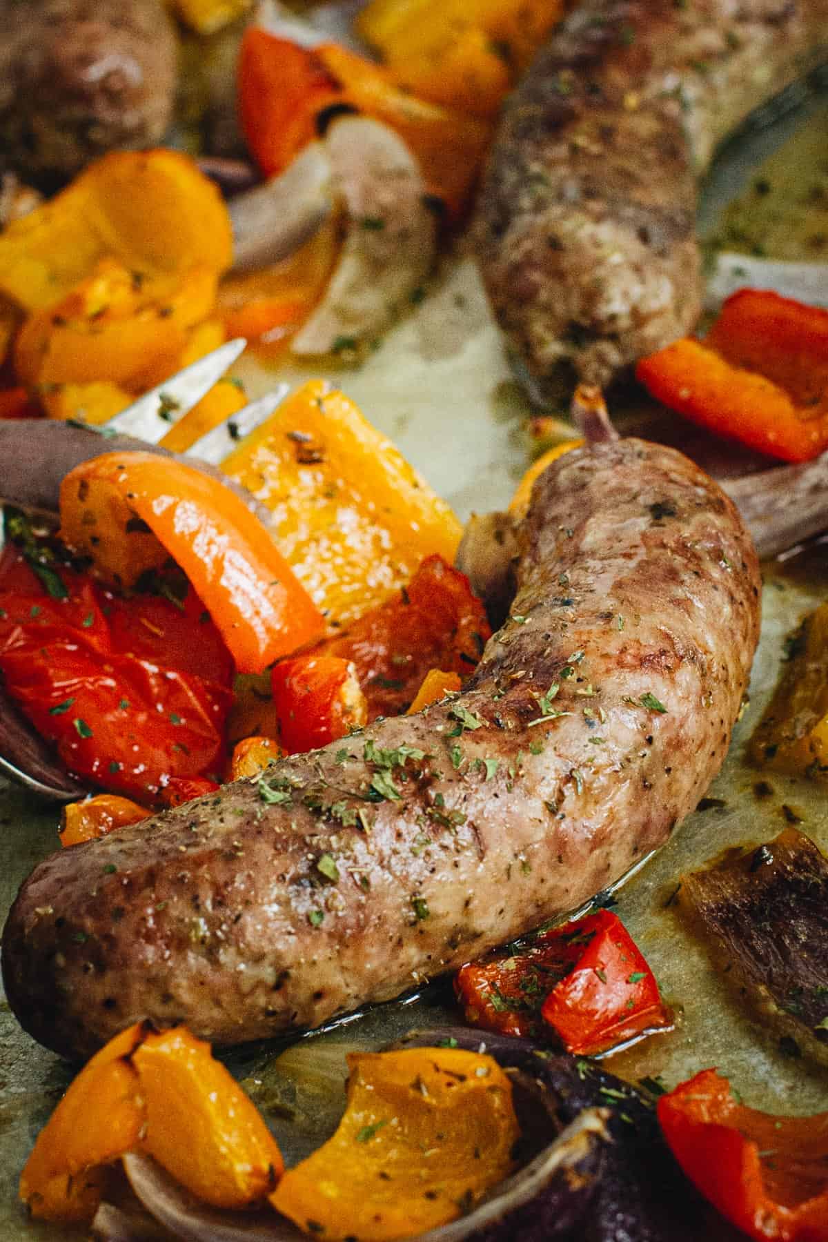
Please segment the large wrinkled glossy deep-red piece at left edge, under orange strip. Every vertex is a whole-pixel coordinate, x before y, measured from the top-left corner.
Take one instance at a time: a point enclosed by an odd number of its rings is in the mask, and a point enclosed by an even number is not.
[[[16,553],[4,556],[0,671],[67,769],[144,802],[170,779],[220,770],[232,661],[195,594],[181,611],[160,597],[114,600],[68,570],[60,579],[68,594],[53,599]],[[185,671],[169,666],[166,635]]]

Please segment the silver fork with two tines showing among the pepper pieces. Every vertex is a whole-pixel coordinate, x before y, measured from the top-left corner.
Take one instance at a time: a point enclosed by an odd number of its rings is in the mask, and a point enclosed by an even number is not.
[[[243,351],[243,338],[205,354],[176,375],[164,380],[145,392],[133,405],[97,430],[103,436],[114,432],[135,436],[148,445],[158,445],[170,426],[184,417],[225,374]],[[254,431],[289,391],[288,384],[279,384],[272,392],[251,401],[218,426],[196,440],[184,456],[195,461],[218,466],[240,440]],[[57,763],[47,743],[17,712],[0,689],[0,773],[25,785],[42,799],[67,802],[87,792],[72,780]]]

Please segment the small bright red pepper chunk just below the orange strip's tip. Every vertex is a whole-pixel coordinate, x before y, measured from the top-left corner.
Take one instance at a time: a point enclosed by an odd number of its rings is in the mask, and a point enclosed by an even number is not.
[[[340,656],[295,656],[273,667],[279,739],[289,754],[315,750],[367,719],[356,669]]]

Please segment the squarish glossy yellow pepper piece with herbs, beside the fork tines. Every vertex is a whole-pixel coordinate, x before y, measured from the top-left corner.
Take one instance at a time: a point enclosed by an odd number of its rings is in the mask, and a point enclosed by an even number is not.
[[[273,512],[282,555],[329,621],[381,604],[431,553],[454,559],[451,508],[324,380],[283,401],[222,469]]]

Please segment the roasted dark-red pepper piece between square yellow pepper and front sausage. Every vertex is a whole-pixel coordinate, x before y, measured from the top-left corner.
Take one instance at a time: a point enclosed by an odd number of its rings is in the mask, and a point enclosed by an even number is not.
[[[313,655],[354,663],[371,722],[405,712],[432,668],[468,677],[490,633],[466,575],[434,555],[423,560],[406,587]]]

